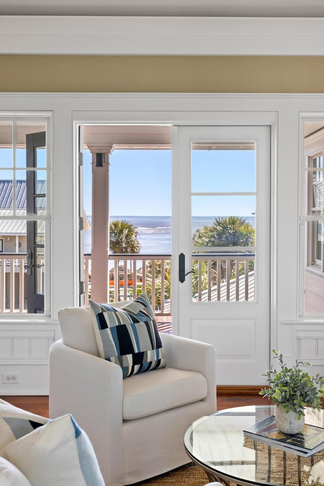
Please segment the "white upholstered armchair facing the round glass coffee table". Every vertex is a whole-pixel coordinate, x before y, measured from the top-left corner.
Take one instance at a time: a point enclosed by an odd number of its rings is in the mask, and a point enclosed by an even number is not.
[[[186,428],[216,411],[214,346],[161,334],[167,367],[123,379],[99,357],[89,308],[58,312],[50,348],[50,417],[72,414],[88,434],[107,486],[124,486],[190,462]]]

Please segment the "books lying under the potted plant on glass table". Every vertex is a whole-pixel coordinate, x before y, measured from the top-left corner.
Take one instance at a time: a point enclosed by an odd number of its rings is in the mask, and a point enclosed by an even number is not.
[[[249,439],[302,457],[324,449],[324,428],[305,424],[298,434],[286,434],[277,429],[273,415],[243,430],[243,434]]]

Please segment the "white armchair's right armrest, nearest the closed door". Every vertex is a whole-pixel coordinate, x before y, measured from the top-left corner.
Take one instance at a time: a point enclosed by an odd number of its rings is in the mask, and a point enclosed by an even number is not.
[[[161,333],[167,366],[180,370],[197,371],[207,380],[211,411],[216,411],[216,349],[215,346],[193,339]]]

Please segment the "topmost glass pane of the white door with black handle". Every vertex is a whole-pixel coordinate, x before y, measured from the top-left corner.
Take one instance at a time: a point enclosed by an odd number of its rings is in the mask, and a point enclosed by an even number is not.
[[[221,146],[193,146],[192,192],[254,192],[254,143],[243,150],[222,150]]]

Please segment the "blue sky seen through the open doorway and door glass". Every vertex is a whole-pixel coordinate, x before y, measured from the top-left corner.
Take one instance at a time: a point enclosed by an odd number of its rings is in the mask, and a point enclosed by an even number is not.
[[[84,207],[91,215],[91,160],[84,156]],[[171,151],[114,150],[110,156],[112,216],[171,215]],[[252,150],[194,150],[193,192],[255,191]],[[193,196],[192,216],[251,216],[254,196]]]

